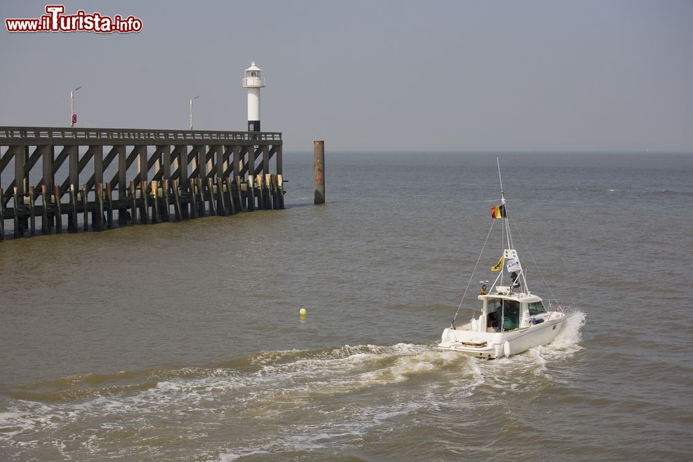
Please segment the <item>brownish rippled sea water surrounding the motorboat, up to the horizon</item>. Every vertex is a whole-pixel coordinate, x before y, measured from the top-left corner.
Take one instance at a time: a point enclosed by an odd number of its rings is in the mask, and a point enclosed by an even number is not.
[[[500,157],[571,315],[495,361],[435,348],[495,156],[328,154],[324,206],[311,161],[283,211],[0,242],[0,459],[689,459],[693,156]]]

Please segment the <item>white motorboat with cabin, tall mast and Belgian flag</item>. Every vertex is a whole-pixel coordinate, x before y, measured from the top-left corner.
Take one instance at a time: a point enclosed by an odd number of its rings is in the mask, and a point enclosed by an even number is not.
[[[489,281],[480,281],[483,284],[477,296],[480,307],[473,311],[469,322],[456,325],[455,320],[474,277],[475,266],[453,322],[443,331],[438,344],[438,348],[442,350],[453,350],[484,359],[516,355],[529,348],[549,344],[559,334],[566,318],[560,303],[554,308],[553,303],[545,303],[544,299],[529,290],[527,272],[520,263],[511,236],[509,213],[500,178],[500,162],[498,177],[500,205],[491,207],[493,221],[489,236],[486,237],[486,242],[489,242],[493,224],[500,221],[505,248],[502,249],[498,264],[491,267],[491,272],[494,275],[497,273],[497,276],[491,284],[491,290],[487,290]],[[481,255],[483,254],[484,249]],[[481,256],[477,260],[477,265],[480,260]],[[493,261],[495,262],[495,258]]]

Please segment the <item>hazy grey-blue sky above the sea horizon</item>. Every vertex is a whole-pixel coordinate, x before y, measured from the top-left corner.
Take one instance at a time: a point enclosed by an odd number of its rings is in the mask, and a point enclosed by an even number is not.
[[[58,3],[58,2],[53,2]],[[693,2],[65,1],[133,34],[0,33],[0,125],[263,130],[285,150],[693,152]],[[46,2],[5,1],[2,19]]]

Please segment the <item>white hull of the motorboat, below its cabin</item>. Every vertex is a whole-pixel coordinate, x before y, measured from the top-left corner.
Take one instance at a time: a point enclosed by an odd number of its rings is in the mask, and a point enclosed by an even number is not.
[[[542,323],[506,332],[477,332],[466,326],[446,328],[438,348],[484,359],[516,355],[553,341],[564,322],[565,314],[549,312]]]

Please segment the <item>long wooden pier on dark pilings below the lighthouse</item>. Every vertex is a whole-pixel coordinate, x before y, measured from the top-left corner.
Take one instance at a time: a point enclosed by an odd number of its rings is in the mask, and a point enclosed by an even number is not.
[[[0,127],[0,240],[279,209],[283,195],[281,133]]]

